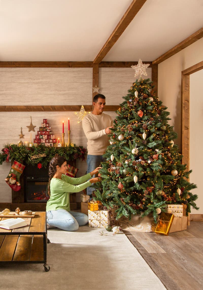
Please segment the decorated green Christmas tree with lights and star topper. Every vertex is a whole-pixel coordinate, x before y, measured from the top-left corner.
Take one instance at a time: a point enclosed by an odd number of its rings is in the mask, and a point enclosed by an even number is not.
[[[141,60],[140,60],[141,61]],[[144,74],[147,65],[133,66]],[[177,134],[168,124],[167,107],[153,93],[150,79],[137,79],[116,111],[110,145],[99,171],[101,182],[94,184],[93,196],[107,208],[116,206],[116,218],[153,213],[155,222],[167,204],[187,204],[199,209],[197,186],[188,182],[182,155],[173,140]]]

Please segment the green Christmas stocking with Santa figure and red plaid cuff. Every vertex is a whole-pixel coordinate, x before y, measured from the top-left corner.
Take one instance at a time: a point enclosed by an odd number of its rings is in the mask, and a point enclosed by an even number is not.
[[[25,165],[14,160],[13,165],[11,166],[8,176],[5,178],[6,183],[14,191],[19,191],[21,189],[20,185],[20,176],[23,173]]]

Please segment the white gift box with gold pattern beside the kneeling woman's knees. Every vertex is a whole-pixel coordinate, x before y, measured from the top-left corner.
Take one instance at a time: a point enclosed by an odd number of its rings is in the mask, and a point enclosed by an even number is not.
[[[90,211],[88,210],[89,226],[92,228],[106,228],[110,224],[108,211]]]

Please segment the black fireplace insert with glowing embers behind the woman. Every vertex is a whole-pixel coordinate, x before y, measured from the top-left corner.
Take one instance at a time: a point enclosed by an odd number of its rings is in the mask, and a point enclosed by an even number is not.
[[[49,195],[47,193],[48,181],[48,176],[25,176],[25,202],[46,202],[47,200],[49,200]]]

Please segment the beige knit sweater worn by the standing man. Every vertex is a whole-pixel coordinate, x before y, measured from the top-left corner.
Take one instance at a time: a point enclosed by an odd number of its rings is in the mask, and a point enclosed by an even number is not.
[[[110,137],[106,135],[105,129],[113,126],[112,118],[102,113],[86,115],[82,120],[82,128],[87,137],[87,151],[89,155],[103,155],[109,145]]]

